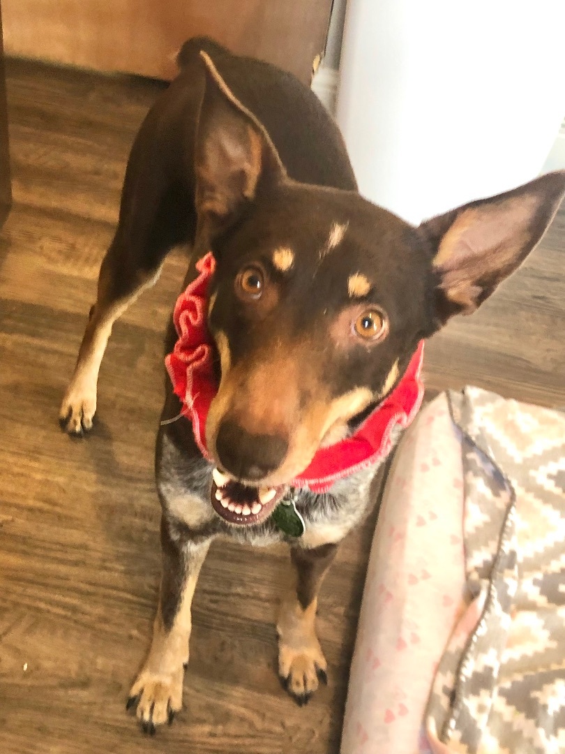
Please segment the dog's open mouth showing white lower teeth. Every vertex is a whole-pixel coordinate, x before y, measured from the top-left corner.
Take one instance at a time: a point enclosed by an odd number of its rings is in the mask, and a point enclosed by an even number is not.
[[[215,468],[210,498],[215,512],[228,523],[251,526],[267,520],[286,489],[286,486],[249,487]]]

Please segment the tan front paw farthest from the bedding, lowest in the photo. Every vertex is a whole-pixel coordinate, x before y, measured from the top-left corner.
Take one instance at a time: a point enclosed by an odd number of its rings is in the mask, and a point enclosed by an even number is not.
[[[182,708],[183,667],[173,674],[150,673],[142,670],[133,684],[126,709],[136,710],[143,732],[151,736],[156,725],[173,722]]]

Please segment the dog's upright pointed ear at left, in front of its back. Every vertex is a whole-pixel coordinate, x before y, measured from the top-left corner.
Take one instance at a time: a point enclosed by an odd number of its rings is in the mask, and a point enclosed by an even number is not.
[[[231,92],[214,63],[201,52],[206,87],[195,149],[196,208],[210,233],[237,219],[264,179],[285,175],[264,126]]]

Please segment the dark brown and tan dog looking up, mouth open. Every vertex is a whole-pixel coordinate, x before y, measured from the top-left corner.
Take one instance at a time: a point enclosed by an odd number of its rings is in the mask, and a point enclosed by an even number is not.
[[[191,599],[217,535],[289,542],[297,584],[277,627],[279,673],[299,703],[325,680],[316,596],[367,510],[375,465],[326,492],[293,480],[368,421],[422,339],[518,268],[565,190],[565,173],[550,174],[414,228],[359,196],[336,125],[292,75],[206,39],[188,41],[179,66],[133,145],[61,408],[69,433],[90,429],[116,318],[157,280],[171,247],[191,244],[194,259],[212,251],[204,315],[217,391],[199,443],[186,416],[157,437],[163,579],[129,702],[151,733],[181,707]],[[193,266],[185,287],[196,277]],[[176,340],[171,324],[167,353]],[[182,411],[167,381],[163,418]],[[289,495],[301,536],[273,523]]]

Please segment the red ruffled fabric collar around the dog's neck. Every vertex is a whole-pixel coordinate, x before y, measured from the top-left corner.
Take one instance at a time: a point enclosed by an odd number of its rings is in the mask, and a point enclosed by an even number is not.
[[[218,389],[212,369],[212,341],[206,327],[208,286],[215,270],[212,253],[207,253],[196,266],[200,275],[176,302],[173,321],[179,339],[165,364],[175,394],[182,401],[182,414],[191,419],[197,446],[210,461],[206,449],[206,417]],[[392,430],[396,425],[408,427],[422,403],[422,358],[423,341],[420,341],[405,375],[392,393],[352,437],[319,449],[310,466],[292,481],[292,486],[325,492],[337,480],[385,458],[392,446]]]

